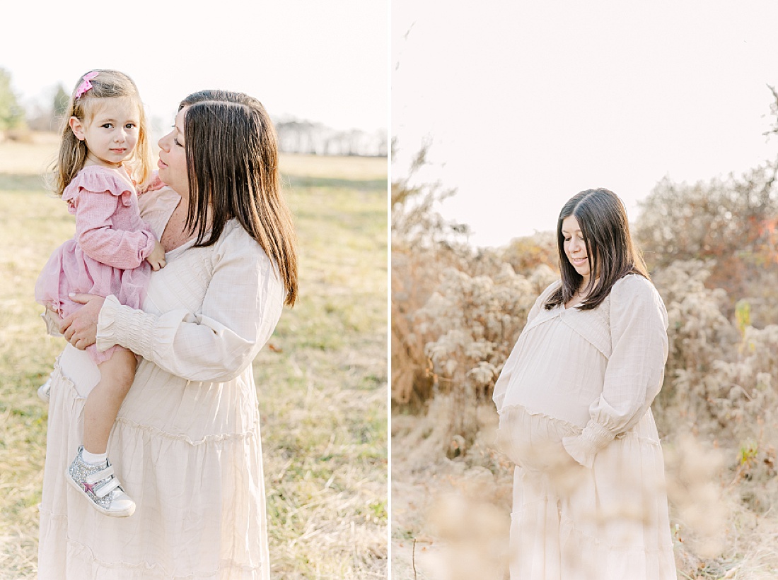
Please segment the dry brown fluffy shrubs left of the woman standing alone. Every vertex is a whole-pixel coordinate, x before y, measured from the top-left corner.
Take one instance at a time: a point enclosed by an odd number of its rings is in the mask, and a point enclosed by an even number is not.
[[[538,234],[505,250],[471,249],[467,226],[436,211],[454,190],[419,183],[427,152],[392,183],[391,394],[405,410],[450,394],[441,449],[454,457],[475,440],[475,409],[489,401],[528,310],[556,277],[555,248],[553,236]]]

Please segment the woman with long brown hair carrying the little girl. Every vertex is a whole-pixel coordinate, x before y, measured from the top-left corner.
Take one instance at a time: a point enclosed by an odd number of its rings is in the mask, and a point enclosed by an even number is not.
[[[142,217],[166,250],[142,309],[75,295],[51,379],[40,578],[269,578],[251,362],[297,296],[296,236],[279,187],[275,130],[258,100],[203,91],[159,141]],[[82,349],[139,355],[109,450],[137,508],[76,509],[62,484],[84,398],[99,378]]]

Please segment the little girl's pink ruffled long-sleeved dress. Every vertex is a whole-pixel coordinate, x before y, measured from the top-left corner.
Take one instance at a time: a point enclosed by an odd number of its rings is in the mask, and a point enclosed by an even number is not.
[[[75,236],[58,247],[40,272],[35,299],[61,318],[82,305],[71,292],[114,295],[121,304],[140,308],[151,277],[145,261],[156,237],[138,211],[135,187],[124,169],[89,166],[79,171],[62,193],[75,215]],[[52,334],[56,327],[47,320]],[[95,364],[107,361],[118,347],[98,352],[86,348]]]

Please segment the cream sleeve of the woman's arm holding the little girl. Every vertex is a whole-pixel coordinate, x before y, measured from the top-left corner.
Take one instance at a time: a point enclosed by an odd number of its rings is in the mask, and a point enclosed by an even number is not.
[[[278,323],[285,291],[272,261],[240,226],[222,237],[199,312],[149,314],[110,296],[100,310],[98,349],[120,344],[193,381],[224,383],[243,372]]]

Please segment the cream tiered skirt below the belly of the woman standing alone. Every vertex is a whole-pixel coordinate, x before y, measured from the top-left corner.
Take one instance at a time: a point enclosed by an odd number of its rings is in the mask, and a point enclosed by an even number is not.
[[[506,407],[499,445],[517,464],[510,543],[512,580],[675,580],[664,459],[650,411],[576,463],[562,438],[577,425]]]

